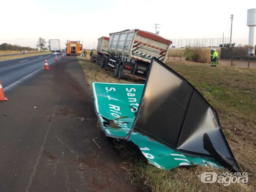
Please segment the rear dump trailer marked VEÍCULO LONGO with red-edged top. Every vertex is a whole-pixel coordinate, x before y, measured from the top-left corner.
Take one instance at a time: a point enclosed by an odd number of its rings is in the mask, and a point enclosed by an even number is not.
[[[97,51],[98,55],[103,55],[101,67],[114,69],[114,76],[118,79],[134,77],[146,80],[152,57],[165,62],[172,43],[157,34],[139,29],[109,35],[108,49],[102,45],[104,38],[99,38]]]

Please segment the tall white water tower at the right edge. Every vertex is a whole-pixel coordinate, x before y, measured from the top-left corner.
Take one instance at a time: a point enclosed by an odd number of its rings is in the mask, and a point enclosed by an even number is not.
[[[252,48],[248,48],[248,56],[254,56],[255,54],[255,35],[256,35],[256,9],[247,10],[247,26],[249,27],[249,41],[248,45]]]

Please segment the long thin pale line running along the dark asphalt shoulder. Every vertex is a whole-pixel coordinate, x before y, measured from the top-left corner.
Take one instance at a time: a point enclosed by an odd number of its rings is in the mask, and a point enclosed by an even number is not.
[[[60,95],[61,95],[61,94],[59,94],[59,96],[58,96],[57,104],[56,104],[56,106],[55,106],[55,108],[54,108],[54,110],[53,110],[53,115],[52,115],[52,117],[54,117],[55,114],[56,114],[56,110],[57,110],[57,106],[58,106],[58,102],[59,102]],[[31,184],[32,184],[32,181],[33,181],[35,172],[36,172],[36,168],[37,168],[37,165],[38,165],[39,160],[40,160],[40,158],[41,158],[41,155],[42,155],[42,152],[43,152],[43,149],[44,149],[44,145],[45,145],[45,142],[46,142],[46,140],[47,140],[47,137],[48,137],[48,134],[49,134],[49,131],[50,131],[51,126],[52,126],[52,121],[49,122],[47,131],[46,131],[46,134],[45,134],[45,136],[44,136],[43,144],[42,144],[42,146],[41,146],[41,148],[40,148],[40,151],[39,151],[38,156],[37,156],[37,159],[36,159],[35,166],[33,167],[32,174],[31,174],[31,176],[30,176],[30,178],[29,178],[28,186],[26,187],[26,192],[29,192],[29,188],[31,187]]]

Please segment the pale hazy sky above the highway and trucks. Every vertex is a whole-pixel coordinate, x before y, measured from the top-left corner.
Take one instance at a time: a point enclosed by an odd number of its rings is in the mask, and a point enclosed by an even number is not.
[[[230,36],[230,15],[234,15],[232,43],[248,44],[247,9],[255,0],[171,1],[171,0],[2,0],[0,44],[36,47],[39,37],[80,40],[93,48],[101,36],[126,29],[155,32],[166,39]],[[46,45],[47,46],[47,45]]]

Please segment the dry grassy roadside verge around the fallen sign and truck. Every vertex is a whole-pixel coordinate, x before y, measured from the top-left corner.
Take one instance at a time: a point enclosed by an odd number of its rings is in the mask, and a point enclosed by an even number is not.
[[[78,61],[89,86],[91,81],[141,83],[138,80],[118,80],[113,72],[103,70],[89,58],[78,57]],[[196,177],[200,172],[218,173],[223,170],[207,167],[160,170],[120,145],[123,168],[137,191],[255,191],[256,70],[222,65],[211,68],[207,64],[193,62],[168,61],[166,64],[187,78],[218,111],[226,139],[242,171],[249,173],[249,182],[231,183],[229,186],[202,183]]]

